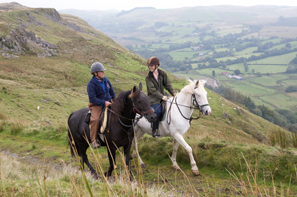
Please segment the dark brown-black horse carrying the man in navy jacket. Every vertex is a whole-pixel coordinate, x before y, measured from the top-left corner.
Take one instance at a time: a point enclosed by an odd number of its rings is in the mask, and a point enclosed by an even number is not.
[[[99,137],[99,142],[101,146],[107,146],[110,151],[108,153],[108,159],[110,167],[105,176],[110,176],[115,164],[115,152],[118,148],[124,148],[125,162],[126,165],[130,167],[130,149],[132,140],[134,138],[134,130],[132,128],[132,119],[136,118],[136,113],[141,116],[145,116],[149,122],[153,122],[156,119],[155,113],[151,110],[148,97],[144,92],[142,92],[142,84],[139,84],[139,89],[134,86],[133,90],[125,91],[118,94],[115,102],[111,105],[111,110],[108,111],[108,117],[110,118],[109,132],[105,131],[105,142],[103,142]],[[89,108],[80,109],[72,113],[68,118],[68,137],[81,157],[82,166],[84,168],[84,162],[87,164],[91,173],[97,177],[96,171],[91,166],[89,159],[87,157],[87,149],[91,143],[90,138],[90,127],[89,124],[84,122],[86,114]],[[118,116],[120,115],[120,116]],[[71,134],[70,134],[71,132]],[[100,131],[99,131],[100,132]],[[86,134],[85,134],[86,133]],[[87,135],[88,142],[85,139]],[[73,138],[73,139],[72,139]],[[74,155],[73,149],[71,148],[71,154]],[[131,171],[130,171],[131,174]]]

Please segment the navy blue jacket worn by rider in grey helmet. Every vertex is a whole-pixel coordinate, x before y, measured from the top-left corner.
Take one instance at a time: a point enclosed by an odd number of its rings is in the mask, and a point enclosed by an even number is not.
[[[110,81],[104,77],[106,91],[103,91],[103,87],[100,85],[99,81],[93,77],[88,83],[88,95],[89,102],[94,105],[100,106],[103,108],[105,106],[105,101],[110,101],[112,98],[115,98],[115,93],[111,86]]]

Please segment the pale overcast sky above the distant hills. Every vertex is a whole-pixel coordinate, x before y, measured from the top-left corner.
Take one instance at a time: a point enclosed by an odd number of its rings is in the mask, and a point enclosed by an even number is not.
[[[297,6],[297,0],[15,0],[28,7],[49,7],[61,9],[117,9],[129,10],[134,7],[178,8],[198,5],[288,5]],[[0,0],[0,3],[11,2]]]

